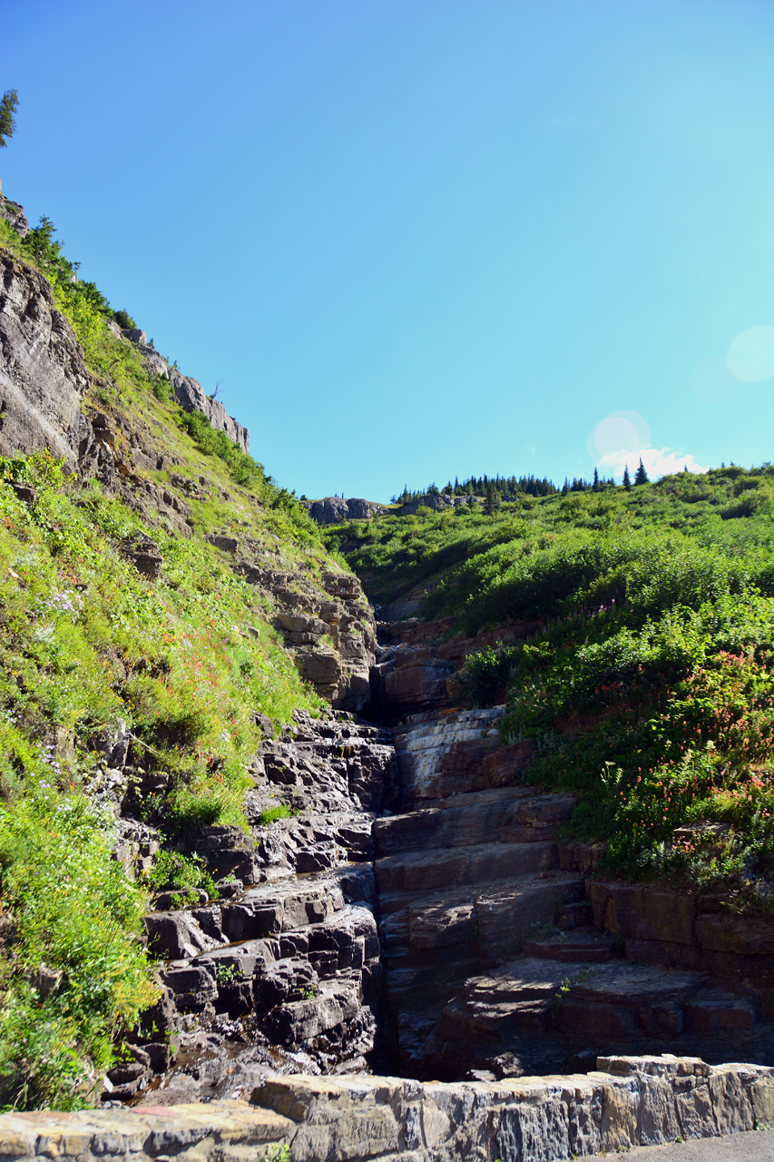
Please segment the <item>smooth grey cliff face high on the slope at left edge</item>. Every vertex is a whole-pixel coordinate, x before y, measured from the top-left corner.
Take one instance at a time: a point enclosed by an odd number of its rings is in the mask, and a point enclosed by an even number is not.
[[[0,251],[0,454],[48,447],[70,468],[88,424],[88,373],[42,274]]]

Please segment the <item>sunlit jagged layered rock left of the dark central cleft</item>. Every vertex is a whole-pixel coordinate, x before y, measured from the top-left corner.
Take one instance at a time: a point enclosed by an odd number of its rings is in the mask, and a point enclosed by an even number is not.
[[[108,1075],[110,1100],[150,1084],[165,1103],[241,1093],[278,1070],[367,1070],[378,1053],[371,831],[395,792],[392,745],[350,716],[299,713],[261,745],[253,779],[250,837],[216,826],[187,840],[221,898],[164,892],[146,918],[165,996],[132,1063]]]

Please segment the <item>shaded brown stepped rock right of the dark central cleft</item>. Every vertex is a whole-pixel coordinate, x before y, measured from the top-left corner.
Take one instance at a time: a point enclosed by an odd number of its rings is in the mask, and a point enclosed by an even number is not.
[[[676,1046],[769,1062],[768,926],[754,937],[688,897],[589,878],[599,853],[557,838],[572,796],[526,784],[532,745],[500,745],[502,708],[449,706],[433,666],[453,672],[480,644],[446,629],[380,625],[393,713],[435,702],[394,725],[400,813],[374,822],[400,1070],[500,1078]]]

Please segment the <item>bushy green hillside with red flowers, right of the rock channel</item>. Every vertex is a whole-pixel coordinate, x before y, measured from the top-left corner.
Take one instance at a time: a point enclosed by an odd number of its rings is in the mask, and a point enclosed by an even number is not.
[[[368,591],[420,587],[459,632],[522,623],[468,657],[461,701],[506,701],[524,780],[580,796],[605,870],[774,903],[774,467],[630,490],[524,495],[327,530]],[[496,634],[495,634],[496,636]]]

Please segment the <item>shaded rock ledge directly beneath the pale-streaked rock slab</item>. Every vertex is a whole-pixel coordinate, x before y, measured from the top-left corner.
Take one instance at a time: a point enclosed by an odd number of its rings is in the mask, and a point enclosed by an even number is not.
[[[377,859],[437,847],[475,844],[523,844],[552,839],[557,826],[573,812],[568,795],[524,798],[521,788],[501,788],[489,795],[464,795],[459,806],[430,808],[374,822]]]

